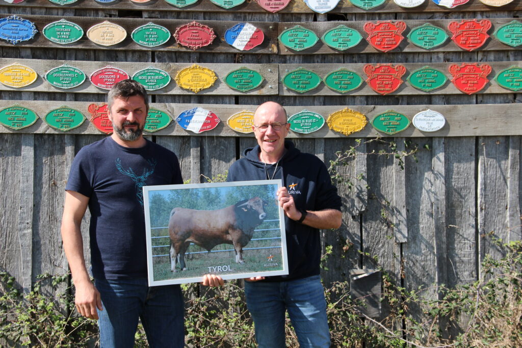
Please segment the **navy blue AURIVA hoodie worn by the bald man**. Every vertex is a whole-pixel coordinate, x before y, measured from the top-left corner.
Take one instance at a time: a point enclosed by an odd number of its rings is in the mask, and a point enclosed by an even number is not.
[[[297,209],[341,210],[341,198],[331,184],[330,175],[323,161],[310,153],[295,148],[290,140],[284,141],[286,152],[276,164],[267,164],[268,175],[282,179],[292,195]],[[227,181],[266,180],[265,164],[259,161],[259,145],[246,149],[243,158],[230,166]],[[274,173],[276,170],[276,173]],[[321,239],[319,230],[284,218],[287,238],[289,274],[267,277],[266,281],[292,280],[319,274]]]

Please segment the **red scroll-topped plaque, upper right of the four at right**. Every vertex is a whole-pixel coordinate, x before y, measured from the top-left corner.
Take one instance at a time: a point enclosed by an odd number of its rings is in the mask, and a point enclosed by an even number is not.
[[[450,22],[449,31],[453,33],[452,40],[457,46],[466,51],[473,51],[482,46],[489,35],[491,21],[483,19],[478,22],[476,19],[464,19],[460,23]]]

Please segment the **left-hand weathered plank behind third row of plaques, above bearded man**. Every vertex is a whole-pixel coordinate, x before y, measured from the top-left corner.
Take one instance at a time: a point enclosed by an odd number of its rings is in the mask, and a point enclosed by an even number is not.
[[[102,51],[105,53],[104,51]],[[107,55],[113,55],[114,52],[106,52]],[[147,54],[146,52],[142,52],[141,54]],[[114,57],[116,58],[116,57]],[[121,60],[121,59],[118,59]],[[105,89],[98,88],[89,80],[89,76],[91,74],[101,68],[106,66],[112,66],[119,69],[124,70],[130,77],[139,71],[146,69],[150,66],[162,69],[166,71],[171,76],[171,82],[168,86],[161,88],[156,91],[149,91],[148,94],[190,94],[195,95],[191,90],[183,89],[175,82],[176,75],[183,69],[191,67],[192,63],[136,63],[137,59],[133,56],[125,59],[128,62],[114,62],[114,61],[101,61],[101,62],[92,62],[92,61],[57,61],[53,60],[43,60],[43,59],[16,59],[13,58],[0,58],[0,66],[7,66],[13,63],[22,64],[32,68],[38,74],[37,80],[27,87],[22,88],[13,88],[0,84],[0,90],[6,91],[41,91],[41,92],[58,92],[58,93],[101,93],[106,94],[108,91]],[[133,62],[134,61],[134,62]],[[86,75],[86,80],[78,87],[70,88],[70,89],[60,89],[56,88],[51,83],[46,81],[46,74],[53,68],[58,66],[67,64],[69,66],[74,66],[75,68],[80,69]],[[277,84],[278,84],[278,68],[276,64],[232,64],[232,63],[221,63],[221,64],[203,64],[200,63],[200,66],[205,68],[212,69],[216,76],[217,80],[213,84],[212,87],[208,89],[204,89],[198,94],[237,94],[237,95],[245,95],[245,94],[277,94]],[[264,81],[262,84],[250,91],[241,92],[235,89],[228,87],[227,83],[224,82],[226,76],[233,70],[238,69],[240,67],[247,67],[249,69],[254,69],[258,71],[264,77]]]

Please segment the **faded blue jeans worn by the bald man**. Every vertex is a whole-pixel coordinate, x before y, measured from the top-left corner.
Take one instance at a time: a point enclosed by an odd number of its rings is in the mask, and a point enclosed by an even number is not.
[[[284,312],[301,347],[329,347],[326,301],[319,275],[283,282],[245,281],[246,306],[259,348],[283,348]]]

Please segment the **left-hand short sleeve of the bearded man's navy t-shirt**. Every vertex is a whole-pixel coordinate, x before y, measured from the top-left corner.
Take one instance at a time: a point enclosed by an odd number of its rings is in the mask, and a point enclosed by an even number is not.
[[[88,151],[81,149],[70,166],[69,178],[65,189],[76,191],[84,196],[92,195],[93,171],[92,161]]]

